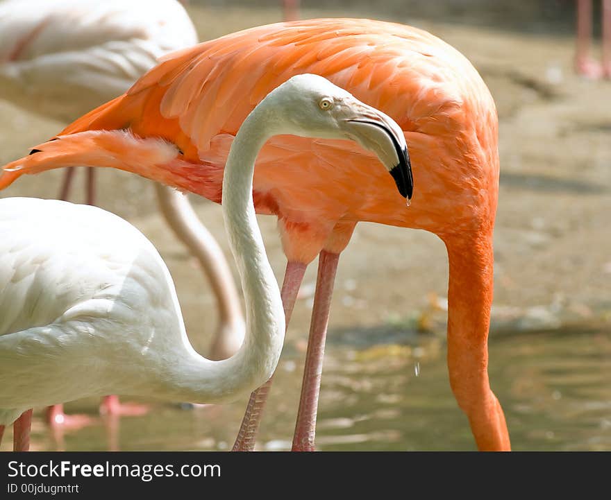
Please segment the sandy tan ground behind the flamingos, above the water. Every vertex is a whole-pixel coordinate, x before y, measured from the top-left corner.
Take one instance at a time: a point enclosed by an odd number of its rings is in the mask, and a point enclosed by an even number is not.
[[[257,9],[196,6],[191,12],[203,40],[281,19],[271,3]],[[499,108],[501,151],[492,334],[609,325],[611,82],[573,74],[573,39],[566,35],[566,26],[558,33],[525,33],[486,27],[486,19],[460,24],[449,16],[443,21],[434,20],[439,16],[410,16],[399,8],[385,15],[365,6],[346,11],[340,3],[335,10],[305,9],[302,15],[377,17],[425,28],[467,55],[489,85]],[[465,18],[464,12],[460,16],[457,19]],[[0,117],[1,163],[22,156],[62,128],[3,102]],[[53,197],[60,175],[53,171],[22,178],[0,196]],[[99,205],[140,227],[165,257],[187,329],[196,347],[203,348],[214,325],[214,298],[162,222],[152,187],[117,171],[99,171],[99,180]],[[220,208],[192,200],[227,250]],[[281,277],[285,259],[275,221],[262,217],[260,222]],[[294,312],[291,343],[307,335],[314,279],[312,265],[302,288],[304,299]],[[330,329],[400,324],[441,332],[446,288],[447,257],[436,236],[360,224],[340,261]]]

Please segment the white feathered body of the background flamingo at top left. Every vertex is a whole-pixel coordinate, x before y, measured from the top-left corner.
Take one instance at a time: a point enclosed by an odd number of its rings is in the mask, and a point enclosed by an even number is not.
[[[0,28],[0,96],[60,121],[198,41],[176,0],[4,0]]]

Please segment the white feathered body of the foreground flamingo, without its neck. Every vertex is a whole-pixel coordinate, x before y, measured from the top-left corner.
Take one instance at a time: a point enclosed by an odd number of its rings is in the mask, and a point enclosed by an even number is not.
[[[80,397],[176,398],[176,370],[199,355],[135,227],[97,207],[5,198],[0,255],[0,424]]]

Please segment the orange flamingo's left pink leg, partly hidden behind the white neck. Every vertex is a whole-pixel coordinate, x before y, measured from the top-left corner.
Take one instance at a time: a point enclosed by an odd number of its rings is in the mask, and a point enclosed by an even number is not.
[[[307,264],[302,262],[287,262],[287,267],[284,274],[284,282],[282,284],[282,304],[284,307],[284,313],[286,318],[286,327],[288,328],[299,292],[299,286],[303,281],[303,275],[305,274],[305,268]],[[259,422],[271,389],[271,382],[274,376],[265,382],[260,388],[254,390],[251,393],[248,406],[246,406],[246,413],[242,419],[242,425],[240,425],[240,431],[237,433],[235,444],[233,445],[232,451],[253,451],[255,447],[255,441],[257,438],[257,431],[259,429]]]

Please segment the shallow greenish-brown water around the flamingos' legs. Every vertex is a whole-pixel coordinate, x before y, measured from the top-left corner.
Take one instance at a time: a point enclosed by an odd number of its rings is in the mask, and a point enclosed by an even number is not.
[[[317,426],[320,450],[471,450],[467,419],[447,380],[437,338],[419,345],[362,345],[375,331],[330,332]],[[401,332],[394,338],[401,338]],[[396,341],[396,340],[395,340]],[[611,334],[503,334],[490,342],[490,374],[516,450],[611,450]],[[290,448],[303,354],[288,345],[260,431],[258,449]],[[418,373],[418,375],[417,375]],[[110,422],[94,399],[67,406],[94,424],[52,436],[40,418],[33,449],[223,450],[245,402],[182,409],[153,404],[148,415]],[[7,449],[10,435],[3,449]]]

